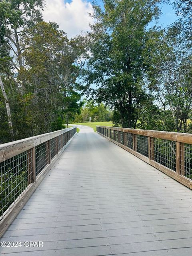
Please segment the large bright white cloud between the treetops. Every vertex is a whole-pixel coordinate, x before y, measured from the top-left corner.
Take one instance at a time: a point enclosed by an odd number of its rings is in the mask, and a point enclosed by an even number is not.
[[[88,13],[92,12],[90,2],[84,0],[46,0],[43,18],[46,22],[54,21],[59,24],[60,29],[73,37],[81,31],[89,30],[89,22],[92,18]]]

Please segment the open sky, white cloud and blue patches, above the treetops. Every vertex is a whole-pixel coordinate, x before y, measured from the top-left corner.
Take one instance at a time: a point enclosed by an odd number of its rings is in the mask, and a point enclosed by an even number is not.
[[[170,3],[173,0],[170,0]],[[89,22],[92,19],[89,12],[92,12],[92,0],[45,0],[44,20],[55,21],[60,25],[68,37],[74,37],[80,32],[89,30]],[[96,3],[102,6],[102,0],[96,0]],[[175,12],[171,4],[160,4],[162,15],[160,16],[158,25],[166,27],[176,20]],[[151,23],[151,26],[154,22]]]

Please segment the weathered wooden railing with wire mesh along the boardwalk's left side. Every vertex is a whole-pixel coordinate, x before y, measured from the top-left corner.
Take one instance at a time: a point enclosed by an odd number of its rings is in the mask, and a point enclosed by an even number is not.
[[[72,127],[0,145],[0,236],[75,134]]]

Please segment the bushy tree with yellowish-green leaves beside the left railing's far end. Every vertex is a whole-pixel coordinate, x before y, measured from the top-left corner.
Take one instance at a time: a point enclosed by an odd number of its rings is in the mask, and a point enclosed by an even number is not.
[[[26,79],[26,91],[33,95],[30,107],[41,119],[40,132],[61,128],[63,120],[70,118],[74,108],[78,112],[80,96],[75,92],[78,87],[76,78],[84,65],[82,56],[85,58],[86,55],[80,39],[83,38],[68,40],[53,22],[39,22],[24,38],[26,69],[22,75]]]

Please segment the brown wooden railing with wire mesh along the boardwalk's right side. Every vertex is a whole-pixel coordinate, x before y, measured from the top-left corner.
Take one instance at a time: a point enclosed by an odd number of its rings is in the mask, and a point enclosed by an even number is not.
[[[192,134],[97,126],[97,132],[192,189]]]

